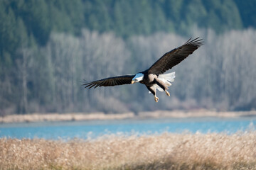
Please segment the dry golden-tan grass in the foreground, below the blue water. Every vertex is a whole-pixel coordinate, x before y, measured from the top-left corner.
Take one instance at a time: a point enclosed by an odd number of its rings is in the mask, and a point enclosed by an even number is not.
[[[1,138],[0,169],[256,169],[256,132]]]

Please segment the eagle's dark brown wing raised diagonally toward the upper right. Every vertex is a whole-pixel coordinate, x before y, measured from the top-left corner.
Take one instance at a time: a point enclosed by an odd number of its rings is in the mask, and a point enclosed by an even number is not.
[[[181,45],[181,47],[177,47],[174,50],[166,52],[166,54],[164,54],[148,69],[149,74],[163,74],[182,60],[186,59],[188,55],[191,55],[193,51],[203,45],[202,39],[198,39],[199,38],[191,40],[190,38],[185,44]]]

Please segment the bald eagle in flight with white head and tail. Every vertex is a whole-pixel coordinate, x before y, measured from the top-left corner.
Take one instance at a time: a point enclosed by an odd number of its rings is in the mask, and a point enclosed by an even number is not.
[[[171,69],[182,60],[186,59],[188,55],[191,55],[201,45],[203,45],[202,39],[196,38],[191,40],[190,38],[180,47],[166,52],[161,58],[159,58],[159,60],[157,60],[151,67],[149,67],[149,69],[146,69],[143,72],[139,72],[133,75],[108,77],[106,79],[100,79],[96,81],[87,81],[82,85],[85,86],[85,88],[91,89],[92,87],[96,88],[98,86],[117,86],[139,82],[146,86],[146,88],[149,90],[149,93],[154,95],[154,100],[158,102],[159,98],[156,96],[156,89],[159,91],[165,91],[166,95],[170,96],[167,90],[175,78],[175,72],[171,72],[169,74],[164,74],[164,72]]]

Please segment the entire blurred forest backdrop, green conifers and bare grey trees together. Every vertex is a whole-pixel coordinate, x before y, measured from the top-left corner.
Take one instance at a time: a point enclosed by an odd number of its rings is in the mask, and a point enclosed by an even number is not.
[[[256,1],[0,0],[0,115],[256,109]],[[188,38],[205,45],[174,67],[159,103],[135,74]]]

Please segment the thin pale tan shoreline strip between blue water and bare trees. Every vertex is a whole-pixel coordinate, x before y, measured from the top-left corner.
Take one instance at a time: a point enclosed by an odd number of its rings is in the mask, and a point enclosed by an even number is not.
[[[135,113],[33,113],[25,115],[6,115],[0,117],[4,123],[36,123],[83,120],[123,120],[123,119],[154,119],[154,118],[239,118],[254,117],[256,111],[216,112],[216,111],[149,111]]]

